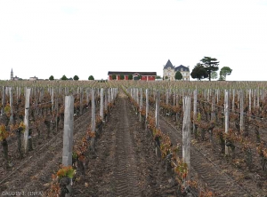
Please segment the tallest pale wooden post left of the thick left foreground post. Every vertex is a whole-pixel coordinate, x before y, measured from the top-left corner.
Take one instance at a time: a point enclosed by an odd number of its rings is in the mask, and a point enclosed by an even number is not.
[[[30,89],[26,89],[25,92],[25,116],[24,116],[24,124],[25,124],[25,131],[24,131],[24,150],[25,153],[28,153],[28,107],[29,107],[29,95]]]

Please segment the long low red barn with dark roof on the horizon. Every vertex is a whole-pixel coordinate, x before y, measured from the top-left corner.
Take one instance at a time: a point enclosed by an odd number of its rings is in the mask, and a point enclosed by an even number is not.
[[[133,80],[142,80],[142,81],[155,81],[157,72],[120,72],[120,71],[109,71],[109,80],[112,80],[112,75],[116,76],[114,80],[128,80],[129,76],[133,76]],[[120,76],[123,75],[124,79],[120,79]]]

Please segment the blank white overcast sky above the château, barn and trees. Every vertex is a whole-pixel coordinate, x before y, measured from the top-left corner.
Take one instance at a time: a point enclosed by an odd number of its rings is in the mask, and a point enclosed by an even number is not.
[[[267,79],[267,0],[1,0],[0,79],[163,75],[204,56],[227,80]]]

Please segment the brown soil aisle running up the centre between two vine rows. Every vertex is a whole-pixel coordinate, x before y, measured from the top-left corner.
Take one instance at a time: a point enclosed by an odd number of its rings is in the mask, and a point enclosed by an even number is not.
[[[150,133],[142,129],[125,94],[119,95],[97,139],[96,157],[89,160],[86,175],[74,183],[74,196],[175,196],[177,185],[157,158]]]

